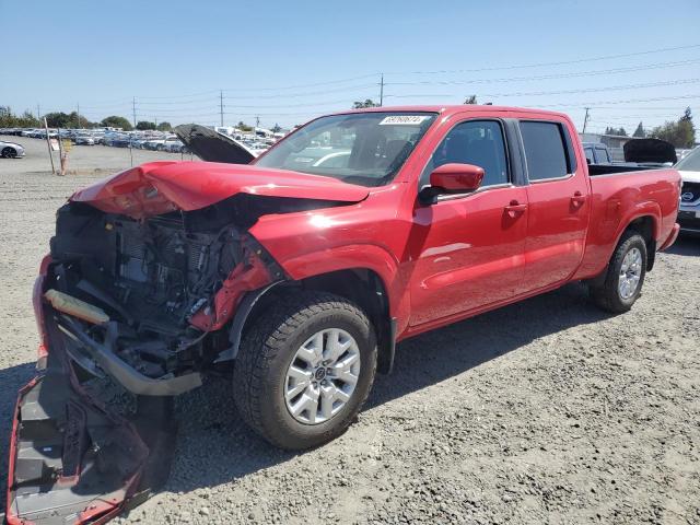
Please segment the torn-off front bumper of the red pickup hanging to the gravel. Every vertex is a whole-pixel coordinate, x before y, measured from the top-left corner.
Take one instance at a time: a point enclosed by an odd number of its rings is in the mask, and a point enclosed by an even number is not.
[[[175,438],[172,398],[139,398],[129,419],[114,413],[78,382],[60,338],[50,339],[56,345],[46,369],[18,397],[5,520],[105,523],[167,479]]]

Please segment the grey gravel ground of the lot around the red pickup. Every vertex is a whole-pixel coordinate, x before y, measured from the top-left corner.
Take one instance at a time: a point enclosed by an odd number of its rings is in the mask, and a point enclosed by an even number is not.
[[[2,472],[54,212],[95,179],[52,177],[45,144],[21,142],[27,159],[0,160]],[[129,153],[81,147],[73,161],[116,170]],[[359,422],[304,454],[268,446],[229,385],[207,384],[178,405],[167,486],[118,522],[698,524],[700,240],[656,265],[625,315],[569,285],[399,345]]]

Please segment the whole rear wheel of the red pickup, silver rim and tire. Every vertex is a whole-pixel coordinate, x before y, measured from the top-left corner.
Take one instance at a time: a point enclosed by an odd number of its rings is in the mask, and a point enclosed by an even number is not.
[[[646,258],[644,237],[635,231],[626,232],[610,258],[605,281],[591,287],[594,303],[614,314],[629,311],[641,295]]]

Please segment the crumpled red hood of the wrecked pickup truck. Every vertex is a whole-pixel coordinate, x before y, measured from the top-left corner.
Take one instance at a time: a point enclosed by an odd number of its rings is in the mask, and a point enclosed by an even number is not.
[[[161,161],[118,173],[77,191],[70,200],[142,219],[175,210],[202,209],[237,194],[359,202],[369,195],[369,189],[284,170]]]

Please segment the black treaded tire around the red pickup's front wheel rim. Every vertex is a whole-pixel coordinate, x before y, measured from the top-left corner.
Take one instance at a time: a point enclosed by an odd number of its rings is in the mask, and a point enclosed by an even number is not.
[[[327,328],[341,328],[357,341],[359,377],[338,413],[322,423],[304,424],[287,408],[287,372],[304,341]],[[238,412],[253,430],[280,448],[311,448],[334,440],[352,423],[370,394],[376,352],[370,320],[346,299],[311,291],[282,298],[255,322],[241,343],[233,373]]]

